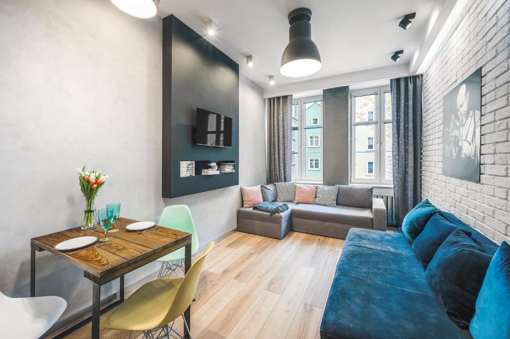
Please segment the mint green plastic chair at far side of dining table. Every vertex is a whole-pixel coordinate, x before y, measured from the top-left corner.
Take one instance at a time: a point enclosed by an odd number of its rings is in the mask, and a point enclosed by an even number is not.
[[[161,213],[158,225],[191,233],[191,255],[198,251],[198,237],[196,236],[195,224],[187,205],[166,206],[163,213]],[[184,254],[184,247],[181,247],[156,259],[157,262],[161,263],[158,278],[170,276],[172,272],[179,277],[179,274],[176,272],[177,270],[181,270],[184,273]]]

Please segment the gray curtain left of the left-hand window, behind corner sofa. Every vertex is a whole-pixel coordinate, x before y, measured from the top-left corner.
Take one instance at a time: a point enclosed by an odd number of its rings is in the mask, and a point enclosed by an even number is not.
[[[291,181],[292,95],[268,99],[268,182]]]

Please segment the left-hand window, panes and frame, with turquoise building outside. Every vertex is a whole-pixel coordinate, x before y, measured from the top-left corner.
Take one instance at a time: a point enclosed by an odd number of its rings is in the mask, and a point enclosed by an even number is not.
[[[322,181],[322,97],[292,103],[292,180]]]

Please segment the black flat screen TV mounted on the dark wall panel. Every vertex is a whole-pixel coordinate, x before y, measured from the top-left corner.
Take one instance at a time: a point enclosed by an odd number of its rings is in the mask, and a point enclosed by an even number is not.
[[[197,145],[232,147],[232,118],[196,109]]]

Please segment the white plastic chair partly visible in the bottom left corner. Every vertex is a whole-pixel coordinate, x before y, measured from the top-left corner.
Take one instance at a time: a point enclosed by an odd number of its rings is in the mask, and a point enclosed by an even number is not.
[[[66,306],[60,297],[10,298],[0,292],[1,336],[37,339],[55,324]]]

